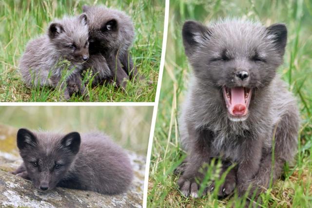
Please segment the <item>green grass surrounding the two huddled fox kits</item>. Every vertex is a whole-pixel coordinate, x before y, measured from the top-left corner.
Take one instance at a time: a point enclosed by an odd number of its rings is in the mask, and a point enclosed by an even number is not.
[[[152,83],[129,81],[125,91],[113,85],[88,85],[90,101],[155,100],[164,23],[162,0],[0,0],[0,101],[59,101],[58,90],[25,86],[18,72],[19,59],[27,42],[44,34],[53,19],[81,14],[84,4],[105,4],[132,17],[136,38],[131,54],[139,73]],[[70,101],[86,100],[73,96]]]

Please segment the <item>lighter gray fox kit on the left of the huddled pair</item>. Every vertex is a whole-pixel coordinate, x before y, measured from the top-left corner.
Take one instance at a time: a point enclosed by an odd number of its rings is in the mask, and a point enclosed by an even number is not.
[[[20,59],[19,69],[26,85],[60,89],[66,86],[60,83],[64,69],[69,71],[65,74],[70,73],[68,80],[80,74],[82,64],[89,58],[88,33],[86,14],[52,22],[47,35],[30,41]],[[65,59],[70,62],[69,66],[62,63]],[[70,98],[66,88],[64,98]]]

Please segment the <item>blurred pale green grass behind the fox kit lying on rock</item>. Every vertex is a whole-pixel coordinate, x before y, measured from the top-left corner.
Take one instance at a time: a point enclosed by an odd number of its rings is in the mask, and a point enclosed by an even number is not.
[[[146,155],[152,115],[153,106],[1,106],[0,124],[64,133],[98,130]]]

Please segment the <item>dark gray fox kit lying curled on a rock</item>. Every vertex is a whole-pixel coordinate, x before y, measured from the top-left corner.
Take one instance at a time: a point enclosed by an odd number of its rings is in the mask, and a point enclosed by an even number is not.
[[[133,178],[125,151],[99,132],[80,136],[20,129],[17,145],[23,163],[13,174],[43,191],[64,187],[116,194],[126,191]]]

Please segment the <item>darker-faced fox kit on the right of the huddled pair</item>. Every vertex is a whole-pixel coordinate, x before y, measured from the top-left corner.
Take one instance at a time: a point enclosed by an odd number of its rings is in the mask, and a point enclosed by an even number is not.
[[[90,30],[90,59],[84,68],[91,67],[97,76],[94,85],[111,79],[125,87],[124,80],[137,75],[129,54],[135,36],[132,20],[124,12],[104,6],[84,5],[83,12]]]

